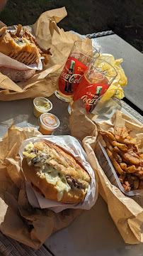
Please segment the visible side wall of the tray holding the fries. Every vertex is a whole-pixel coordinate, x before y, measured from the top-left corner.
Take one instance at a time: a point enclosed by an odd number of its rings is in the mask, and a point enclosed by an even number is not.
[[[134,191],[125,191],[125,188],[123,188],[122,184],[119,181],[118,175],[115,172],[115,169],[113,167],[113,164],[111,163],[108,154],[106,153],[103,145],[101,144],[101,139],[98,137],[97,143],[96,143],[96,157],[98,159],[99,164],[101,165],[105,175],[108,177],[108,180],[110,183],[112,183],[117,188],[120,188],[122,193],[124,193],[127,196],[135,196],[139,195],[140,191],[143,191],[143,189],[138,189]]]

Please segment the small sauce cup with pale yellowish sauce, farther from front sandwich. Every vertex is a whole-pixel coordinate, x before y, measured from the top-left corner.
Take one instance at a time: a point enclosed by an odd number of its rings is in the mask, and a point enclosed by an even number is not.
[[[41,114],[47,113],[52,110],[52,102],[45,97],[36,97],[33,100],[33,114],[35,117],[40,117]]]

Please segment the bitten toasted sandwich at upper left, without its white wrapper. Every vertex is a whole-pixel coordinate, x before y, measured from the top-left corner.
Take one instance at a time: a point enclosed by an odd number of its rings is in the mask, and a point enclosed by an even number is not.
[[[50,48],[40,48],[35,36],[20,24],[14,32],[6,31],[6,27],[0,29],[0,52],[25,65],[38,63],[40,56],[45,58],[47,64],[51,55]]]

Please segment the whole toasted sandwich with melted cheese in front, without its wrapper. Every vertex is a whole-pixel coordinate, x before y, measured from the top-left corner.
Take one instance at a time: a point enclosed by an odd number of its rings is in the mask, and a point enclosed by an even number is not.
[[[35,191],[61,203],[84,201],[91,177],[71,154],[55,144],[30,142],[23,156],[23,173]]]

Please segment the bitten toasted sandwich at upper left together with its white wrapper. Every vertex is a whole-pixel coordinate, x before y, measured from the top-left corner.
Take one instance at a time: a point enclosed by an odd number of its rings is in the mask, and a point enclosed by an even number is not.
[[[50,49],[38,45],[35,36],[20,24],[16,30],[0,29],[0,72],[14,81],[27,80],[48,63]]]

